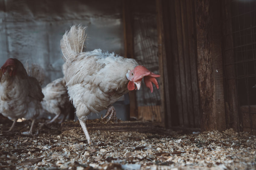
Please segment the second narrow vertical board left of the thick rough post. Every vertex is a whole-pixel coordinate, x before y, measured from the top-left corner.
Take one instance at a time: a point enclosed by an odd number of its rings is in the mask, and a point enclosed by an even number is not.
[[[190,49],[189,49],[189,37],[188,32],[190,27],[187,24],[187,8],[186,1],[181,0],[181,25],[183,35],[183,58],[184,58],[184,69],[185,69],[185,80],[186,80],[186,94],[187,94],[187,115],[189,127],[194,127],[194,109],[193,109],[193,98],[192,98],[192,82],[191,82],[191,69],[190,69]]]

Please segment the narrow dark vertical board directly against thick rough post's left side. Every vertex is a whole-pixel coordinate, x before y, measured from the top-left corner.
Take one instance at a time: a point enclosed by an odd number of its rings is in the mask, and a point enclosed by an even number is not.
[[[194,110],[195,128],[200,128],[200,107],[199,107],[199,89],[197,80],[197,42],[196,42],[196,25],[195,25],[195,6],[194,1],[186,0],[187,5],[187,27],[188,43],[190,55],[190,74],[192,86],[192,101]]]

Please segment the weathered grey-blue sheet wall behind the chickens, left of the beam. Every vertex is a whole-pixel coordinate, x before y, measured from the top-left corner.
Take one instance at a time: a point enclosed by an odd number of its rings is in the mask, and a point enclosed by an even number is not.
[[[123,54],[121,2],[111,1],[3,1],[0,7],[1,65],[15,57],[37,63],[46,71],[44,85],[62,77],[62,35],[72,24],[88,26],[87,50]]]

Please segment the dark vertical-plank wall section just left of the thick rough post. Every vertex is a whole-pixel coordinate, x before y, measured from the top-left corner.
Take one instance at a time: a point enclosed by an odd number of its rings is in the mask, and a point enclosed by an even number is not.
[[[158,30],[161,45],[166,115],[165,124],[200,127],[200,101],[197,79],[197,41],[194,1],[157,0]],[[163,44],[165,45],[163,49]],[[161,56],[160,56],[161,57]],[[166,65],[166,66],[165,66]],[[165,70],[167,69],[167,70]]]

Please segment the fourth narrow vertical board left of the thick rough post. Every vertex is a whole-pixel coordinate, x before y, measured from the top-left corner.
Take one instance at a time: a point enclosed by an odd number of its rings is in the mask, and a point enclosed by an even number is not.
[[[179,118],[179,126],[184,126],[183,120],[183,104],[182,104],[182,94],[181,94],[181,75],[180,75],[180,63],[179,63],[179,53],[178,53],[178,36],[177,36],[177,26],[176,26],[176,16],[175,16],[175,5],[174,1],[168,1],[168,8],[169,8],[169,22],[170,22],[170,40],[171,40],[171,47],[170,47],[170,55],[173,55],[172,66],[173,66],[173,74],[174,74],[174,82],[175,84],[174,90],[175,93],[175,100],[177,103],[177,110],[178,110],[178,118]],[[177,113],[176,113],[177,114]]]

